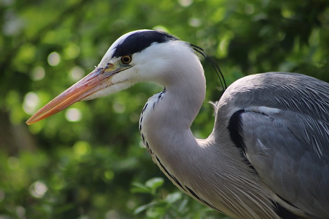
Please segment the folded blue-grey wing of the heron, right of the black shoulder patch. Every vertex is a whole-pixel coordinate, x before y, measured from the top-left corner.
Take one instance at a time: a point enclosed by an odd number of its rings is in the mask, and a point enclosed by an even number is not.
[[[240,115],[245,153],[262,181],[289,204],[329,218],[329,124],[268,107]]]

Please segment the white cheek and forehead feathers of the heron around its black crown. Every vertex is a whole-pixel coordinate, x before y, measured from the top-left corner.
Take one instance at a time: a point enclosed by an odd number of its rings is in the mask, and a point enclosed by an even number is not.
[[[118,38],[117,41],[109,47],[97,68],[106,68],[108,64],[122,64],[123,56],[114,56],[116,48],[128,36],[136,32],[140,32],[140,30],[126,33]],[[84,100],[118,92],[139,82],[155,82],[167,87],[171,81],[179,77],[179,75],[175,75],[175,73],[177,71],[179,72],[179,69],[182,70],[182,68],[188,66],[186,60],[189,60],[189,58],[192,58],[192,60],[196,59],[196,63],[199,63],[197,56],[185,42],[168,41],[164,43],[153,43],[149,47],[131,54],[131,62],[129,63],[131,68],[113,74],[111,78],[109,78],[109,80],[111,80],[111,86],[89,95],[84,98]]]

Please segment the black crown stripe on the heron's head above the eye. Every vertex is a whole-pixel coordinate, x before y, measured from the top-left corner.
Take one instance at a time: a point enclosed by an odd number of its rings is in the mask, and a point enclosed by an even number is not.
[[[124,41],[116,47],[113,57],[121,57],[123,55],[140,52],[143,49],[148,48],[153,43],[163,43],[177,40],[179,40],[177,37],[162,31],[149,30],[135,32],[125,38]]]

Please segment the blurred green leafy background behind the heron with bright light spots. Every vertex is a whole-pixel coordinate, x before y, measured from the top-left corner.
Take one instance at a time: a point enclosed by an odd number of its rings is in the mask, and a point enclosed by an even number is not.
[[[327,0],[0,0],[0,27],[0,218],[6,219],[220,217],[163,180],[141,144],[139,113],[161,90],[157,85],[139,84],[25,125],[126,32],[166,30],[203,47],[228,84],[266,71],[329,81]],[[220,84],[203,63],[206,102],[216,101]],[[197,137],[213,126],[206,102],[192,127]]]

